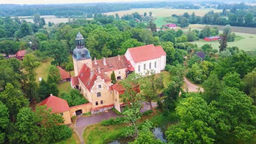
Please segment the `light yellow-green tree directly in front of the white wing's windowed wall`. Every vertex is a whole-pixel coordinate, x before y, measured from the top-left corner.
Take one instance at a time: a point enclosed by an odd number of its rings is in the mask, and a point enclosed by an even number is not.
[[[147,101],[150,109],[152,110],[152,100],[157,99],[161,89],[164,88],[163,79],[164,78],[161,74],[155,75],[154,70],[148,70],[146,73],[146,77],[143,77],[143,83],[141,85],[141,95],[143,99]]]

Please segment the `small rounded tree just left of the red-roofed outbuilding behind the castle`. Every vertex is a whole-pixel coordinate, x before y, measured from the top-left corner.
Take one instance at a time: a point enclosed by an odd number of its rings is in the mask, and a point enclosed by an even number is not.
[[[48,83],[59,83],[60,80],[60,70],[55,65],[50,65],[47,77]]]

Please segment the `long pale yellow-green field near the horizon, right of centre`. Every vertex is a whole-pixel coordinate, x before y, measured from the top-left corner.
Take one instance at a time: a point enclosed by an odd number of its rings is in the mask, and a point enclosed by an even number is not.
[[[123,16],[125,14],[131,14],[134,12],[138,12],[139,14],[144,14],[144,12],[146,12],[147,14],[149,14],[149,11],[152,11],[152,16],[171,16],[172,14],[177,14],[177,15],[183,15],[183,13],[188,12],[189,14],[192,14],[193,12],[195,12],[196,15],[198,16],[203,16],[206,13],[208,13],[208,11],[213,10],[214,12],[220,12],[222,11],[221,9],[165,9],[165,8],[158,8],[158,9],[154,9],[154,8],[142,8],[142,9],[130,9],[130,10],[121,10],[121,11],[113,11],[113,12],[109,12],[109,13],[104,13],[107,15],[114,15],[116,13],[119,14],[119,16]]]

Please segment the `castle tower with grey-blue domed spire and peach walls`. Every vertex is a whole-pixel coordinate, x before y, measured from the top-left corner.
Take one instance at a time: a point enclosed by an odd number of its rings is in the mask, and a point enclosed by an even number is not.
[[[75,38],[76,46],[73,50],[73,63],[75,76],[78,75],[79,71],[85,63],[89,68],[92,68],[91,56],[88,49],[84,47],[84,37],[78,32],[77,38]]]

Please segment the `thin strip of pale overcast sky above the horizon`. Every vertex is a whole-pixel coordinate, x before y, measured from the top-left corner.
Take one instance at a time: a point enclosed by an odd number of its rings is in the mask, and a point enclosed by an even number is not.
[[[97,3],[97,2],[141,2],[154,0],[0,0],[0,4],[58,4],[58,3]],[[159,0],[156,0],[159,1]]]

